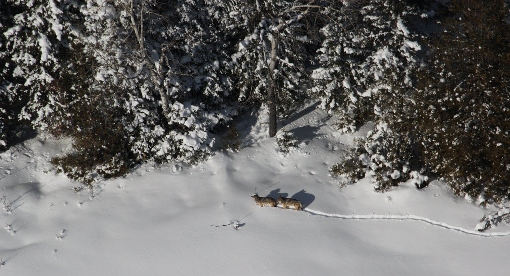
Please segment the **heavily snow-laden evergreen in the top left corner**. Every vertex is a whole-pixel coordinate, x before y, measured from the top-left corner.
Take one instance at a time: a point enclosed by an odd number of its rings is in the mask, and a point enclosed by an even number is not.
[[[46,129],[58,105],[61,74],[65,57],[70,51],[66,29],[73,13],[67,1],[12,1],[8,4],[13,18],[12,26],[3,33],[5,55],[14,70],[10,79],[15,80],[12,93],[25,94],[29,98],[22,118],[31,119],[41,129]],[[8,78],[9,79],[9,78]]]

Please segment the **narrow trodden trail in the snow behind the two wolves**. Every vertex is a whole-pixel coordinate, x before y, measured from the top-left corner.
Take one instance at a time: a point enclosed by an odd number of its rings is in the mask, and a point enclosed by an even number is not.
[[[330,214],[324,213],[321,211],[313,210],[310,208],[305,208],[303,211],[308,212],[312,215],[319,215],[324,217],[331,218],[342,218],[342,219],[388,219],[388,220],[416,220],[422,221],[428,224],[435,225],[437,227],[441,227],[448,230],[462,232],[464,234],[475,235],[475,236],[483,236],[483,237],[501,237],[501,236],[510,236],[510,232],[479,232],[474,230],[465,229],[462,227],[453,226],[441,221],[432,220],[426,217],[421,217],[417,215],[342,215],[342,214]]]

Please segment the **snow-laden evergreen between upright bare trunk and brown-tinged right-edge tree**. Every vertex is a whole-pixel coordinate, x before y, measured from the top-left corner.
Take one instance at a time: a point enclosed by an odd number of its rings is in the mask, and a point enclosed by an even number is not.
[[[336,1],[320,30],[320,68],[313,93],[321,107],[340,116],[339,129],[377,119],[381,105],[412,86],[420,35],[413,30],[419,8],[403,0]]]

